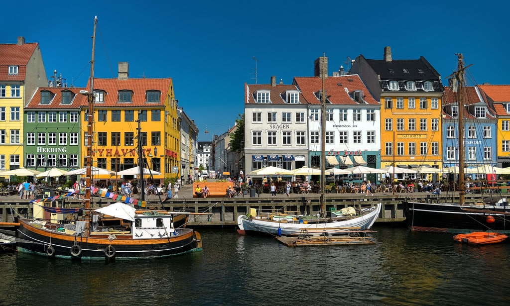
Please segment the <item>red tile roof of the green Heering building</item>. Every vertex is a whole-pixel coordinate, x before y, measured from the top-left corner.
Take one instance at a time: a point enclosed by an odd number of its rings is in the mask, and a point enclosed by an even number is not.
[[[79,108],[80,106],[87,105],[87,99],[84,95],[80,94],[80,90],[85,90],[85,88],[79,87],[39,87],[30,101],[25,105],[25,108]],[[41,92],[49,91],[54,97],[50,100],[49,104],[40,104],[41,102]],[[62,92],[70,91],[74,94],[74,97],[71,100],[71,104],[61,104],[62,102]]]

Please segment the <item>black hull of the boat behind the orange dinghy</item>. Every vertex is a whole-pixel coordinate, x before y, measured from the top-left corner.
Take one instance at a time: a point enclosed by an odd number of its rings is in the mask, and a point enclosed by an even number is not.
[[[412,231],[510,233],[510,206],[458,205],[448,203],[402,202],[407,225]],[[489,218],[493,216],[494,218]],[[493,222],[490,222],[493,221]]]

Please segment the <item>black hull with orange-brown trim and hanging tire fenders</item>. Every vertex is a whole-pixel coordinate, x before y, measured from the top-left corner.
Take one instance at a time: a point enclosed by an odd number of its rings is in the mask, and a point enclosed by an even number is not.
[[[16,237],[19,252],[83,260],[162,258],[200,251],[202,247],[200,234],[192,229],[179,229],[175,236],[156,239],[133,239],[129,234],[75,237],[35,227],[27,219],[20,219]]]

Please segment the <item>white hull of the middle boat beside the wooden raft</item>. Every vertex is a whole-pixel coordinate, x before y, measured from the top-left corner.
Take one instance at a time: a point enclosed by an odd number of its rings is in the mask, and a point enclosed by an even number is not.
[[[240,234],[269,234],[269,235],[296,235],[303,229],[308,231],[327,231],[329,235],[345,234],[345,228],[356,228],[360,230],[370,229],[381,210],[381,203],[367,208],[361,216],[355,216],[347,220],[319,223],[298,223],[273,221],[264,218],[251,218],[240,215],[237,218],[238,232]],[[342,230],[343,228],[343,230]],[[340,229],[336,231],[336,229]]]

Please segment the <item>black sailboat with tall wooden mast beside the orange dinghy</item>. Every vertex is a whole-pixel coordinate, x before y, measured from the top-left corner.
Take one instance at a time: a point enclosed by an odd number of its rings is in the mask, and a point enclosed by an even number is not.
[[[465,199],[466,182],[464,181],[464,57],[458,54],[458,67],[453,77],[457,80],[458,102],[458,202],[422,203],[403,201],[403,210],[409,228],[412,231],[469,233],[473,231],[497,231],[510,233],[510,206],[505,198],[495,203],[473,202]]]

